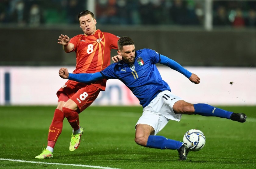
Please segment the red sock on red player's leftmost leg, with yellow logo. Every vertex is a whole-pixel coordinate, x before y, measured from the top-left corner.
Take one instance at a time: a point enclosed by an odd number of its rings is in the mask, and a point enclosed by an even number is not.
[[[64,113],[59,109],[55,109],[52,123],[49,127],[47,146],[54,148],[55,143],[61,134],[64,118]]]

